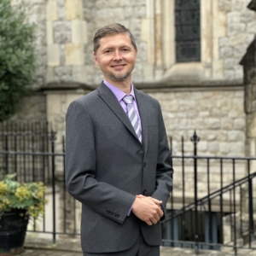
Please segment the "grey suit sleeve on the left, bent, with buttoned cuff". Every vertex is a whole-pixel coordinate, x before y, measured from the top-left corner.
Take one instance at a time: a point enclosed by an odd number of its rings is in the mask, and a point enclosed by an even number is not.
[[[122,224],[135,196],[96,180],[96,152],[90,113],[75,101],[67,110],[65,176],[68,192],[91,210]]]

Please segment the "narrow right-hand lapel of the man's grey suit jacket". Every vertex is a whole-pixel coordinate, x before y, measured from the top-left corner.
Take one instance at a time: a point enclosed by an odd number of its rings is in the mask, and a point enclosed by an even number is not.
[[[143,128],[143,148],[145,153],[147,152],[148,148],[148,108],[147,102],[143,97],[143,93],[134,88],[134,93],[136,96],[137,101],[137,108],[140,113],[142,128]]]

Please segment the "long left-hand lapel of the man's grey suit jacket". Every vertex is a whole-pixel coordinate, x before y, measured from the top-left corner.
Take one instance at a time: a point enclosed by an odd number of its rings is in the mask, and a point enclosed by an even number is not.
[[[120,106],[119,101],[117,100],[116,96],[113,95],[113,92],[108,89],[108,86],[105,85],[103,82],[97,89],[99,91],[99,96],[102,100],[108,105],[109,108],[115,113],[115,115],[119,118],[119,120],[125,125],[125,127],[131,131],[134,137],[137,138],[137,134],[135,133],[131,121],[128,118],[127,114],[125,113],[124,109]],[[137,141],[140,141],[137,138]]]

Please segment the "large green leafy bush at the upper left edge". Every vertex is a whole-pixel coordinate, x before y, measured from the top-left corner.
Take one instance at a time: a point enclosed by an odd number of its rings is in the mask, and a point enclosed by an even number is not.
[[[0,1],[0,122],[8,119],[34,83],[34,26],[22,8]]]

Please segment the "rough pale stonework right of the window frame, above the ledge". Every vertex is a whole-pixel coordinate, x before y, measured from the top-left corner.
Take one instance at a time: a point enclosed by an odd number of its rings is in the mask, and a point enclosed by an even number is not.
[[[224,79],[242,79],[239,61],[256,32],[256,13],[247,9],[251,0],[218,0],[218,9],[226,15],[227,31],[218,39],[220,58],[224,60]]]

